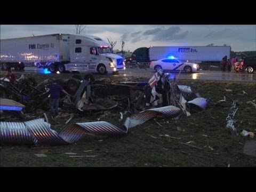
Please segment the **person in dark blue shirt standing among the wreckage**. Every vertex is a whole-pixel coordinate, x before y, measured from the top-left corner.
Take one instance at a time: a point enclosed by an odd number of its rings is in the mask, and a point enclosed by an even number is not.
[[[68,94],[65,90],[63,90],[62,86],[57,84],[56,80],[54,80],[52,84],[46,85],[46,87],[50,89],[50,109],[52,119],[54,119],[55,116],[59,115],[60,92],[62,91],[68,96],[71,95]]]

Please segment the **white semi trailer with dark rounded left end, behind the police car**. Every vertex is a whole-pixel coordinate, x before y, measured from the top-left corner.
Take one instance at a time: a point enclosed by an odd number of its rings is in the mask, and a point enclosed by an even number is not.
[[[174,57],[187,62],[219,62],[227,55],[230,59],[230,46],[151,46],[140,47],[130,58],[131,62],[150,62]]]

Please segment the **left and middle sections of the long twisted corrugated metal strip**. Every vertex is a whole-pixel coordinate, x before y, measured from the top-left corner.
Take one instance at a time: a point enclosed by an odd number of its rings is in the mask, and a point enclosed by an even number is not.
[[[67,145],[81,139],[85,132],[98,134],[125,134],[108,122],[88,122],[68,125],[60,133],[51,129],[43,118],[27,122],[0,122],[1,145]]]

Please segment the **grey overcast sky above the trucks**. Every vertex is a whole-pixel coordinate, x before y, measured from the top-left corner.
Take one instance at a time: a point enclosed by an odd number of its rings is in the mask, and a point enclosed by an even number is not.
[[[1,25],[1,39],[47,34],[76,34],[75,25]],[[134,51],[149,46],[231,46],[256,51],[256,25],[86,25],[81,35],[117,41],[115,49]]]

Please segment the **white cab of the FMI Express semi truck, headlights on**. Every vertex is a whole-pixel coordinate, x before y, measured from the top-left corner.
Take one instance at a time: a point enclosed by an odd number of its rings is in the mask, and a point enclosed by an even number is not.
[[[125,70],[123,58],[111,53],[109,44],[101,38],[74,35],[70,40],[73,44],[70,46],[70,62],[64,65],[64,70],[90,71],[100,74]]]

